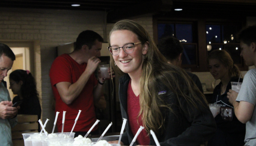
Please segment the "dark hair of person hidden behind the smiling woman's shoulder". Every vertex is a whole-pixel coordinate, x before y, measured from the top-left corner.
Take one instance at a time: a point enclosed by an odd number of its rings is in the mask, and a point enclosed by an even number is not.
[[[183,53],[182,43],[173,36],[166,36],[158,43],[159,51],[169,61],[176,59],[180,53]]]

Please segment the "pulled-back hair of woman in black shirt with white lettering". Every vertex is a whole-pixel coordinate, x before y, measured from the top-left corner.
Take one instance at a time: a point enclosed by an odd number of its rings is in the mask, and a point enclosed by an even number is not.
[[[209,60],[216,59],[219,60],[225,67],[229,69],[230,77],[239,77],[241,72],[239,68],[234,64],[230,54],[226,50],[214,50],[212,51],[208,58],[207,63],[209,64]],[[242,76],[243,77],[243,76]]]

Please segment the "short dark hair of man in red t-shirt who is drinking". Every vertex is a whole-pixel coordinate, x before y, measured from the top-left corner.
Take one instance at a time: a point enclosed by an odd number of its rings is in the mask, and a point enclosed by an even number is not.
[[[75,50],[80,50],[83,45],[87,45],[89,49],[91,49],[91,46],[94,45],[95,40],[103,42],[103,38],[98,33],[92,30],[85,30],[78,35],[75,43]]]

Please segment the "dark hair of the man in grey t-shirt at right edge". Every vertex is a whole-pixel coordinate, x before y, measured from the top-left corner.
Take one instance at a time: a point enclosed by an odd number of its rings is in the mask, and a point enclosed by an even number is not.
[[[256,25],[246,27],[237,35],[237,40],[251,46],[251,43],[256,43]]]

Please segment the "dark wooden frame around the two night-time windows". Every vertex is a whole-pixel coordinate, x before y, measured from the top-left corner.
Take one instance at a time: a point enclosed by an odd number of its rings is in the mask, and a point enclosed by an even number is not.
[[[193,25],[192,33],[193,33],[193,42],[196,44],[196,57],[197,57],[197,65],[182,65],[182,68],[191,68],[192,72],[209,72],[208,64],[207,64],[207,45],[206,42],[206,25],[236,25],[239,26],[239,30],[241,30],[245,24],[246,20],[238,21],[237,18],[233,19],[194,19],[194,18],[167,18],[167,17],[153,17],[153,39],[156,44],[158,44],[158,23],[179,23],[179,24],[189,24]],[[235,34],[236,35],[236,34]],[[189,43],[184,43],[189,44]],[[239,45],[239,43],[211,43],[211,45]],[[182,43],[183,45],[183,43]],[[248,66],[244,63],[242,57],[240,57],[241,63],[236,64],[239,67],[240,71],[247,71]]]

